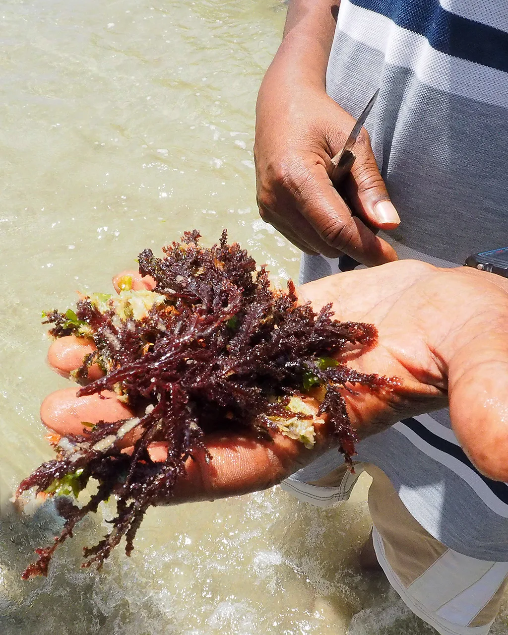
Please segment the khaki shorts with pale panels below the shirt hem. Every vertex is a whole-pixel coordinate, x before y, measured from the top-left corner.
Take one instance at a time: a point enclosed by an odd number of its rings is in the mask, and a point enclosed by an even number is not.
[[[448,549],[411,516],[380,469],[344,466],[312,483],[286,479],[282,487],[321,507],[349,497],[362,471],[372,477],[368,505],[379,564],[404,603],[441,635],[486,635],[508,579],[508,563],[488,562]]]

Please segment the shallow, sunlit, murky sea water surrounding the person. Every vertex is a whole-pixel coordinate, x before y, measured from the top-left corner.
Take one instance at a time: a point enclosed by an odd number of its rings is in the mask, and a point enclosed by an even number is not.
[[[105,505],[47,579],[20,580],[58,530],[51,504],[21,518],[8,502],[51,457],[39,404],[67,385],[46,366],[41,310],[108,291],[143,248],[194,228],[210,244],[227,227],[276,281],[297,276],[298,251],[258,217],[252,157],[284,13],[278,0],[1,0],[2,635],[434,632],[359,572],[363,477],[331,509],[279,488],[152,509],[131,558],[117,548],[101,572],[83,570]]]

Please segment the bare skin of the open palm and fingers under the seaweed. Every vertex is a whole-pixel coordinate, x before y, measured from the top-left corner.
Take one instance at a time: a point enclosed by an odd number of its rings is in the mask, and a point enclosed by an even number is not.
[[[150,284],[135,277],[135,288]],[[298,292],[316,311],[332,302],[337,319],[375,324],[377,345],[348,363],[401,380],[393,392],[344,393],[360,438],[449,404],[453,430],[474,465],[489,478],[508,481],[508,280],[467,267],[437,269],[403,260],[330,276]],[[51,345],[48,359],[65,374],[92,348],[84,338],[61,338]],[[109,397],[77,398],[72,388],[57,391],[44,401],[41,417],[66,434],[76,425],[82,429],[81,421],[130,416],[114,394]],[[175,496],[164,502],[211,500],[279,483],[334,445],[326,421],[316,431],[314,450],[276,433],[272,441],[210,435],[205,439],[211,462],[196,452],[197,461],[187,463]],[[164,460],[164,444],[154,446],[153,453],[154,460]]]

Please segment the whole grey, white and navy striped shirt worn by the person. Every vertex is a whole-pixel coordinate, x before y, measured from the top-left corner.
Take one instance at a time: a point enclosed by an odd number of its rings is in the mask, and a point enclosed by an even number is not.
[[[399,257],[440,266],[508,244],[508,1],[342,0],[327,91],[366,128],[401,225]],[[302,282],[337,272],[304,256]],[[460,448],[448,411],[358,444],[432,536],[472,558],[508,561],[508,485]],[[291,477],[315,481],[337,451]]]

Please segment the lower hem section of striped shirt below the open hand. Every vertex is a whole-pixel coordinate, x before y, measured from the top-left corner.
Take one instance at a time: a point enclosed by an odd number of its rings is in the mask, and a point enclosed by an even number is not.
[[[357,449],[355,458],[387,474],[408,511],[434,538],[472,558],[508,561],[508,485],[472,465],[448,411],[404,419]]]

